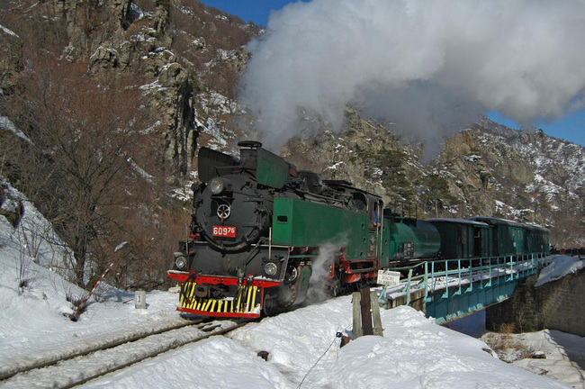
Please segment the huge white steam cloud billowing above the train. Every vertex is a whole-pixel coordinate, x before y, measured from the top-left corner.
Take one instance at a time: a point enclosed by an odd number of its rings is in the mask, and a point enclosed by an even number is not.
[[[313,0],[271,14],[239,101],[266,146],[346,104],[427,144],[490,110],[518,122],[581,108],[585,1]],[[304,115],[304,116],[303,116]]]

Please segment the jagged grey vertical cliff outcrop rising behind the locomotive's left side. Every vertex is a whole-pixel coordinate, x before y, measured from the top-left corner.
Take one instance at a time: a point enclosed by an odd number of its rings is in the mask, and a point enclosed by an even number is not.
[[[139,87],[151,110],[157,113],[152,131],[162,132],[165,157],[172,167],[170,176],[186,176],[197,146],[195,83],[169,49],[168,13],[168,8],[161,5],[153,13],[141,14],[130,0],[113,1],[104,11],[113,21],[106,29],[109,33],[100,34],[89,45],[88,70],[97,77],[109,78],[112,73],[121,73],[143,80]],[[76,25],[72,23],[67,28],[71,31],[70,46],[75,46],[76,41],[86,42]]]

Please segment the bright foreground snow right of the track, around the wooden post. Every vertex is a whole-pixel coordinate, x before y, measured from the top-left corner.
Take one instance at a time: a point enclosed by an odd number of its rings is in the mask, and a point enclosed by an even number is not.
[[[349,296],[250,324],[230,338],[181,348],[85,387],[567,387],[500,361],[481,340],[439,327],[409,307],[383,311],[384,337],[339,348],[336,332],[347,322]],[[269,353],[267,362],[258,351]]]

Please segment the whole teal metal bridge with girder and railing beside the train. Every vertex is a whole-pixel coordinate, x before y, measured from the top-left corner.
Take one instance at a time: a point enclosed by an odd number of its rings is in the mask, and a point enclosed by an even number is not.
[[[424,298],[427,316],[444,324],[508,299],[520,280],[544,266],[545,258],[545,254],[531,254],[446,259],[390,269],[408,271],[409,276],[400,285],[384,287],[379,302],[387,306],[389,300],[405,295],[410,305],[412,296],[419,296]]]

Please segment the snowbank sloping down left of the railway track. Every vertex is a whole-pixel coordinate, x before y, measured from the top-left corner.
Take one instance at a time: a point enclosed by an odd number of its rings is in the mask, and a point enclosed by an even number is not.
[[[148,329],[179,319],[175,294],[152,292],[147,297],[149,309],[135,310],[134,294],[103,285],[95,295],[99,303],[92,298],[80,320],[70,321],[67,316],[74,307],[67,294],[86,294],[63,278],[70,251],[24,195],[2,177],[0,185],[5,196],[0,207],[8,212],[23,208],[16,227],[0,216],[0,370],[99,342],[111,332]]]

